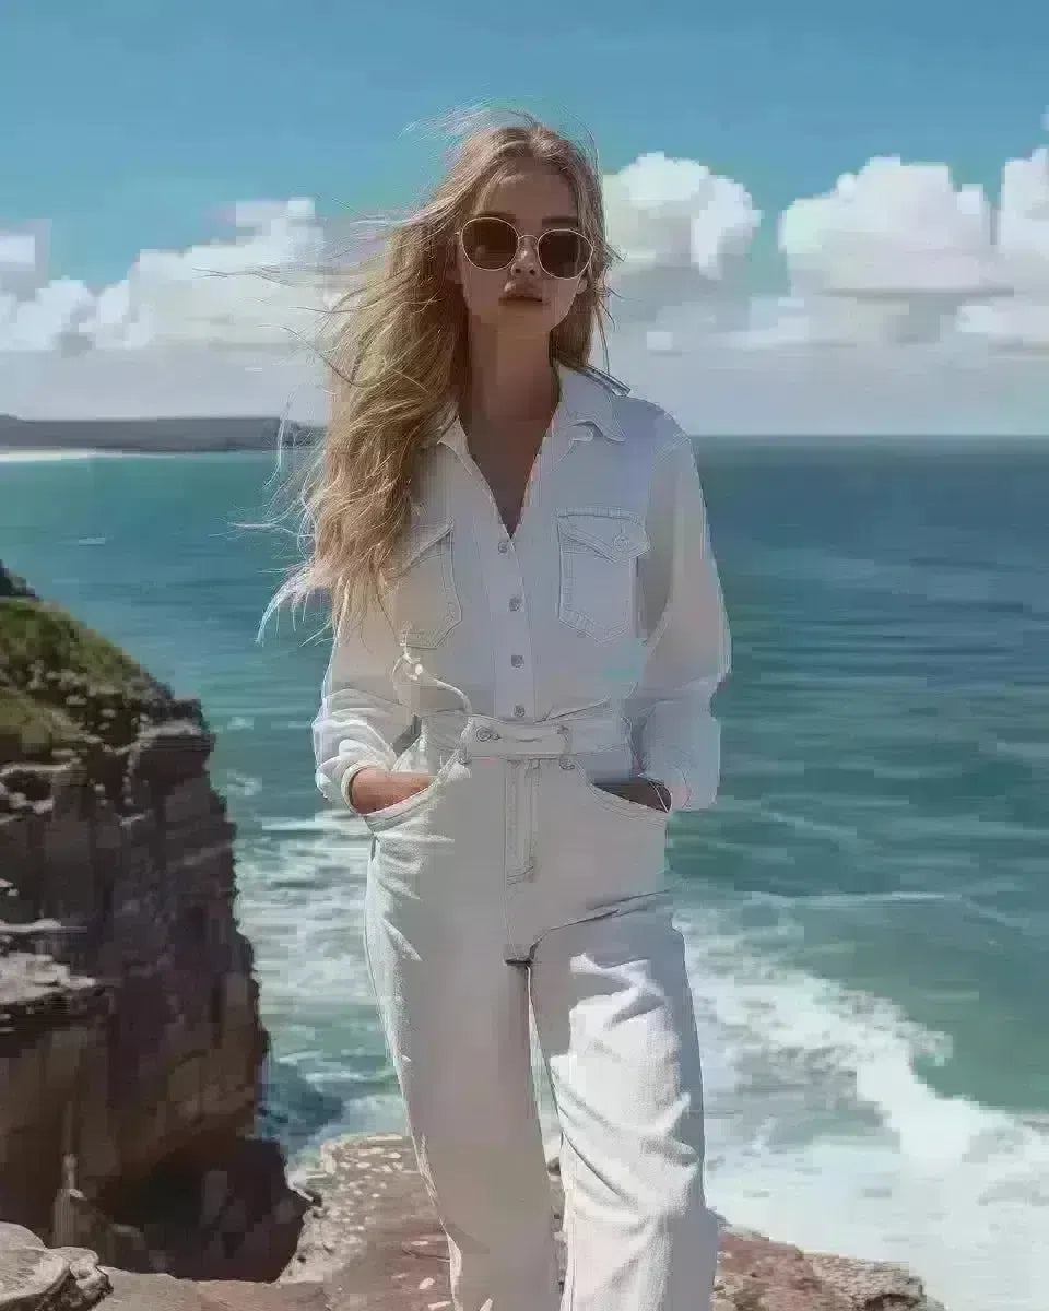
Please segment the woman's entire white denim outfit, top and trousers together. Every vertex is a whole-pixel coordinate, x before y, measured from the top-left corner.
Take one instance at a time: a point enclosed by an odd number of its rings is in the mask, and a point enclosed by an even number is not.
[[[433,780],[363,815],[368,970],[456,1311],[553,1311],[530,1007],[561,1131],[564,1311],[707,1311],[700,1058],[667,815],[717,791],[729,666],[691,444],[603,375],[561,397],[507,535],[455,422],[417,467],[386,614],[338,635],[317,784]]]

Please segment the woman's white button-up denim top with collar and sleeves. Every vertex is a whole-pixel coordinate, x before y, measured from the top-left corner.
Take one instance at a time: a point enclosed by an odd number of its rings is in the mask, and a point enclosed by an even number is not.
[[[513,538],[462,425],[424,447],[404,573],[386,612],[332,645],[313,721],[329,800],[349,805],[358,768],[392,767],[416,713],[392,678],[405,656],[479,714],[527,724],[610,703],[635,772],[662,780],[673,809],[715,800],[711,697],[730,644],[691,442],[606,375],[557,371]]]

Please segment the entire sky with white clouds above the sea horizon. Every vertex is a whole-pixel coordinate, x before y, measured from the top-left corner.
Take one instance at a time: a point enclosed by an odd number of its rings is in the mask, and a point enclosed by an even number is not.
[[[1046,435],[1046,51],[1044,0],[5,0],[0,412],[323,417],[250,269],[484,104],[597,143],[610,366],[691,431]]]

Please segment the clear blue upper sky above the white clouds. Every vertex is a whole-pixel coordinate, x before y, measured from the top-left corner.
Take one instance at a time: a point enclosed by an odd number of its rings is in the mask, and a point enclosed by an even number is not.
[[[237,198],[406,201],[433,149],[405,125],[477,100],[586,126],[607,170],[703,160],[766,215],[877,153],[994,189],[1040,139],[1042,0],[734,9],[8,0],[0,225],[50,220],[51,274],[98,284],[143,245],[210,236]]]

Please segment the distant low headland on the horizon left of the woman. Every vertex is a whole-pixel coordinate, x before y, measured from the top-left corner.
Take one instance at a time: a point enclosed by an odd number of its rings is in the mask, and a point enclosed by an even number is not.
[[[275,451],[281,420],[257,416],[189,418],[16,418],[0,414],[3,451]],[[285,444],[315,442],[323,429],[287,421]]]

